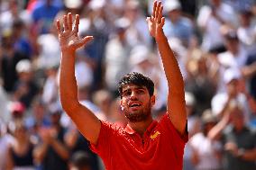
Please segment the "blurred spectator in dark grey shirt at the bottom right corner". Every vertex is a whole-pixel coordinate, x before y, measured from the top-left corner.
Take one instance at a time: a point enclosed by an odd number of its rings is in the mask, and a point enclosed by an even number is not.
[[[224,142],[224,169],[256,168],[256,136],[250,127],[246,126],[239,103],[230,103],[222,120],[210,132],[212,139],[220,135]]]

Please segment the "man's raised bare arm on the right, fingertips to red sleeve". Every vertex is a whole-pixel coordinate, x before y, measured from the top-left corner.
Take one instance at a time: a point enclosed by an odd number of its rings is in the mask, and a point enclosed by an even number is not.
[[[178,67],[178,62],[169,47],[169,42],[163,32],[165,22],[162,17],[163,6],[160,2],[155,1],[153,13],[147,18],[151,36],[156,40],[160,50],[160,57],[167,77],[169,94],[167,111],[169,119],[182,135],[186,129],[187,114],[185,109],[184,82]]]

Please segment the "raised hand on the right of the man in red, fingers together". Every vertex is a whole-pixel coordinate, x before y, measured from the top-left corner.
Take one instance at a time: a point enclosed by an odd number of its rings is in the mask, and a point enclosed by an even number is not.
[[[162,17],[163,6],[161,2],[154,2],[153,13],[151,17],[147,17],[147,22],[149,26],[149,31],[151,36],[158,39],[160,36],[160,31],[164,25],[165,19]]]

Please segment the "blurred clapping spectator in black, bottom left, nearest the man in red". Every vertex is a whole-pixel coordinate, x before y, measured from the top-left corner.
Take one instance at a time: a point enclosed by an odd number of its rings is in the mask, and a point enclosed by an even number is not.
[[[65,129],[60,125],[61,110],[50,112],[51,125],[41,127],[39,134],[41,142],[35,148],[35,160],[42,170],[67,170],[69,150],[64,143]]]

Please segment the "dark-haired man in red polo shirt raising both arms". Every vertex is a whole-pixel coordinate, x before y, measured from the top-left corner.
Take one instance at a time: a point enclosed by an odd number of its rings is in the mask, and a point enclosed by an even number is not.
[[[99,121],[93,112],[78,102],[75,78],[75,51],[92,36],[78,38],[79,16],[74,28],[72,15],[64,15],[63,27],[57,21],[61,47],[60,101],[63,109],[78,130],[91,143],[91,148],[102,157],[107,170],[181,170],[184,146],[187,142],[187,115],[184,82],[178,62],[162,30],[163,6],[155,2],[151,17],[147,18],[151,36],[156,40],[169,85],[167,114],[160,122],[153,121],[151,107],[155,103],[154,84],[139,73],[123,76],[118,85],[121,107],[128,119],[125,129]]]

